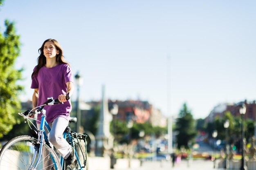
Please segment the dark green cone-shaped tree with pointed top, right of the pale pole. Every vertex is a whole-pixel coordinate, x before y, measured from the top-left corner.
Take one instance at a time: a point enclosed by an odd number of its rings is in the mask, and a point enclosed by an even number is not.
[[[193,115],[187,108],[186,103],[183,104],[183,108],[180,110],[175,131],[177,132],[177,147],[179,149],[182,146],[189,148],[188,144],[193,141],[196,130]]]

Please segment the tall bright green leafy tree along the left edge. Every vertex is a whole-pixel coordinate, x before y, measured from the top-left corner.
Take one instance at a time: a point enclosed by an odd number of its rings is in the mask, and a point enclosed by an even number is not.
[[[20,108],[18,94],[23,89],[17,85],[22,69],[14,69],[20,55],[20,36],[16,35],[13,22],[5,20],[5,27],[4,33],[0,32],[0,138],[16,124],[15,113]]]

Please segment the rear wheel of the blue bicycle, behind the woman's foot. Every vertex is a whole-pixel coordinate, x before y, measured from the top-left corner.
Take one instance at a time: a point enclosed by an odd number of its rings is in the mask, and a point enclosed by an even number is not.
[[[83,140],[79,140],[81,149],[79,147],[78,141],[77,139],[73,139],[73,143],[74,143],[74,148],[76,149],[77,155],[79,157],[79,161],[81,166],[85,166],[85,168],[83,168],[83,170],[89,170],[89,163],[88,163],[88,157],[86,160],[86,165],[84,164],[84,160],[86,159],[85,155],[86,155],[86,149],[85,149],[85,142]],[[78,161],[74,161],[74,163],[72,163],[69,166],[64,166],[66,168],[66,170],[80,170],[80,166]]]

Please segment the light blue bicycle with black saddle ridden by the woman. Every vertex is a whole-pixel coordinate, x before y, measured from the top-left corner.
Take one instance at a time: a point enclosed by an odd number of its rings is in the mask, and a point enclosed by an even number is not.
[[[67,94],[66,99],[70,97]],[[53,99],[53,97],[48,97],[47,101],[32,110],[31,112],[27,110],[24,113],[18,113],[23,116],[25,123],[28,122],[31,130],[30,123],[36,128],[30,119],[34,119],[28,116],[36,113],[43,113],[40,129],[36,132],[34,130],[33,135],[22,135],[14,137],[8,141],[0,151],[0,169],[1,170],[39,170],[43,169],[43,162],[48,163],[47,167],[44,169],[49,170],[88,170],[88,155],[86,148],[86,137],[87,135],[79,134],[73,132],[69,125],[63,133],[63,137],[69,142],[69,144],[74,148],[74,155],[76,160],[71,164],[67,165],[63,157],[59,158],[54,149],[50,146],[48,138],[45,133],[45,127],[50,132],[46,118],[46,110],[44,110],[45,105],[63,104],[59,102],[58,99]],[[37,109],[38,108],[38,109]],[[34,119],[36,120],[36,119]],[[70,117],[69,124],[76,123],[76,117]],[[36,128],[37,129],[37,128]],[[47,156],[43,157],[42,151],[47,152]]]

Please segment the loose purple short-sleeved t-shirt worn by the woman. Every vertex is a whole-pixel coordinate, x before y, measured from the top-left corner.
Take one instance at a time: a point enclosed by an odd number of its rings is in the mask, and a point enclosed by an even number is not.
[[[58,64],[52,68],[45,66],[40,68],[37,75],[33,76],[31,83],[31,88],[38,88],[37,106],[41,106],[46,102],[47,97],[58,99],[59,95],[66,95],[67,82],[73,82],[72,71],[67,64]],[[44,109],[46,110],[46,121],[52,123],[56,117],[64,117],[69,120],[72,106],[71,101],[68,100],[64,104],[46,105]],[[39,121],[41,120],[41,115],[38,114],[37,116]]]

